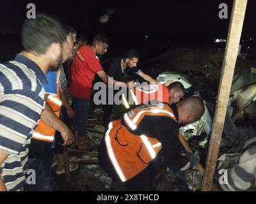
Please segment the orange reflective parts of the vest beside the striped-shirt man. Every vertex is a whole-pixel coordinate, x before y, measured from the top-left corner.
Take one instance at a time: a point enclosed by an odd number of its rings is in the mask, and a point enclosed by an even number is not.
[[[58,69],[57,74],[57,94],[50,94],[46,103],[51,106],[52,111],[57,117],[60,117],[60,108],[61,108],[61,99],[60,99],[60,69]],[[43,140],[46,142],[53,142],[55,129],[51,126],[48,126],[42,120],[39,121],[38,126],[35,129],[35,133],[33,133],[32,138],[35,140]]]

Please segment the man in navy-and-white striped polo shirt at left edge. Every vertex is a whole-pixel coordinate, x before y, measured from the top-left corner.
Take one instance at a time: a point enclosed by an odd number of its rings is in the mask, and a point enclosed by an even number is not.
[[[23,189],[30,139],[45,107],[45,73],[60,66],[65,40],[60,22],[37,15],[22,26],[24,51],[0,64],[0,191]]]

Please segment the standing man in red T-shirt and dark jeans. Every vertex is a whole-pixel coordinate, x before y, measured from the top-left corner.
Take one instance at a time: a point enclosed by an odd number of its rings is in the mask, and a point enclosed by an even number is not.
[[[108,84],[108,77],[100,65],[96,54],[103,55],[108,50],[108,40],[104,36],[97,35],[92,46],[84,45],[79,48],[72,64],[71,82],[69,91],[72,96],[72,106],[76,112],[74,129],[78,135],[78,148],[90,150],[91,147],[85,141],[86,121],[90,108],[90,96],[92,94],[92,82],[97,74],[104,83]]]

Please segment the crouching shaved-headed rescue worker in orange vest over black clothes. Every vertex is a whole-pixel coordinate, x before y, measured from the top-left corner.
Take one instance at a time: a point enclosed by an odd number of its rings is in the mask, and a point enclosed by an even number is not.
[[[99,148],[99,164],[129,190],[152,190],[161,154],[171,171],[182,170],[186,159],[181,152],[179,128],[203,114],[204,102],[193,96],[177,105],[158,103],[134,108],[109,123]]]

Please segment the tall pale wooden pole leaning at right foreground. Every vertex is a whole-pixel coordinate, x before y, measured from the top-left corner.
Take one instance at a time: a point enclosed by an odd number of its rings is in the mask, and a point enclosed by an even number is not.
[[[223,124],[227,112],[228,98],[236,66],[239,41],[241,38],[247,0],[234,0],[228,29],[227,45],[222,64],[218,99],[212,124],[211,139],[205,164],[202,191],[211,191],[212,180],[218,158]]]

